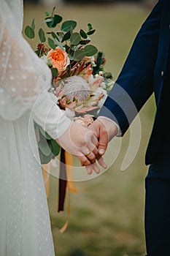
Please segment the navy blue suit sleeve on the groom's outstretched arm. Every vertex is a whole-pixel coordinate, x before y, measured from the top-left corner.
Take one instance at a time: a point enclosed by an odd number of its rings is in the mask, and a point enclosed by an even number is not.
[[[153,93],[163,1],[158,1],[142,24],[123,69],[98,116],[116,121],[122,136]]]

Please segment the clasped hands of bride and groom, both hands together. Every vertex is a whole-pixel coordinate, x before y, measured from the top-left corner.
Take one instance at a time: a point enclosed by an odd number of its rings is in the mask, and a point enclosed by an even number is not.
[[[69,129],[57,139],[57,142],[70,154],[74,154],[88,174],[93,170],[100,172],[98,164],[107,168],[102,156],[107,150],[108,142],[117,134],[117,126],[111,120],[98,118],[89,129],[80,124],[72,123]]]

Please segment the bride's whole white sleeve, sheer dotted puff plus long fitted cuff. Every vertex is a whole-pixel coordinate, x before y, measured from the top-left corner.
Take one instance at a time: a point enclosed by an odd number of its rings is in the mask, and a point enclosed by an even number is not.
[[[16,120],[31,110],[34,120],[58,138],[69,127],[69,118],[47,92],[51,71],[23,38],[12,3],[3,0],[0,8],[0,116]]]

